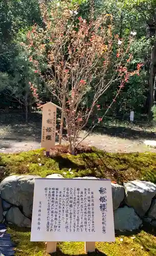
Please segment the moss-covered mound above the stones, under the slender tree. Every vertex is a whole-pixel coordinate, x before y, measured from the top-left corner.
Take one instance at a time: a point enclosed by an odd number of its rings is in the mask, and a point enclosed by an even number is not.
[[[4,166],[0,169],[1,180],[13,173],[41,177],[59,173],[65,178],[109,178],[119,184],[134,179],[156,183],[155,153],[106,153],[93,149],[92,152],[76,156],[61,152],[48,158],[43,150],[35,150],[19,154],[0,154],[0,165]]]

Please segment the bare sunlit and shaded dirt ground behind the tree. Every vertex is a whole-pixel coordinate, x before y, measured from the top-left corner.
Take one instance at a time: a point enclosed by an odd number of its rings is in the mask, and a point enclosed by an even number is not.
[[[40,148],[41,115],[29,116],[29,124],[25,124],[22,114],[0,114],[0,152],[18,153]],[[82,138],[85,132],[82,132]],[[156,139],[154,126],[109,122],[99,131],[88,136],[83,143],[96,146],[107,152],[155,152],[143,142]],[[57,143],[57,138],[56,138]]]

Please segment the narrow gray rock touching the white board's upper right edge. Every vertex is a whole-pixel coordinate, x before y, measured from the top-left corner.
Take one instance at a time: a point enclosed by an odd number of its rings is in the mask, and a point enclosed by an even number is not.
[[[121,202],[125,197],[125,189],[123,186],[111,183],[112,185],[112,199],[113,199],[113,209],[118,209]]]

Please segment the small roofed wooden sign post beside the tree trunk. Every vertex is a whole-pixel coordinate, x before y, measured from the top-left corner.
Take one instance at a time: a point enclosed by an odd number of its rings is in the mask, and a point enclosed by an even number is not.
[[[42,132],[41,132],[41,147],[46,148],[46,155],[50,155],[50,149],[55,147],[56,136],[56,110],[61,110],[60,106],[52,102],[48,102],[38,109],[42,108]]]

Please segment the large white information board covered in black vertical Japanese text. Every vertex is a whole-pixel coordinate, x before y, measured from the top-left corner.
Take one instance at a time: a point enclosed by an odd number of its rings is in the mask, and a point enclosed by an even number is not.
[[[114,242],[110,180],[35,179],[31,241]]]

